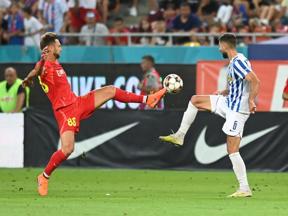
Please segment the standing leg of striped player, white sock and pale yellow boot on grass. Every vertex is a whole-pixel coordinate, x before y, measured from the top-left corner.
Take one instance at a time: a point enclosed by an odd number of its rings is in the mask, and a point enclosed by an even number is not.
[[[252,196],[252,192],[249,188],[247,180],[246,167],[239,153],[240,141],[241,141],[240,137],[232,137],[227,135],[227,152],[232,162],[234,173],[240,185],[240,188],[235,193],[229,195],[228,197]]]

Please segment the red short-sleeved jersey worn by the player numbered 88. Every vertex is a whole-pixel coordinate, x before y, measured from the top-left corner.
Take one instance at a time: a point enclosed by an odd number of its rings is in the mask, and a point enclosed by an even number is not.
[[[38,62],[39,63],[39,62]],[[38,63],[35,66],[38,65]],[[45,61],[45,73],[38,76],[40,85],[52,103],[54,112],[61,108],[73,104],[77,96],[71,91],[71,86],[67,76],[59,62]]]

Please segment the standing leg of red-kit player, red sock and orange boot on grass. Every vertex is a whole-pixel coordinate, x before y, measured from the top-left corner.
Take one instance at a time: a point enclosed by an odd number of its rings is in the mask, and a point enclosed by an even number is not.
[[[45,196],[48,193],[48,181],[52,172],[61,164],[62,161],[66,160],[69,155],[74,151],[74,131],[65,131],[61,135],[61,149],[55,152],[44,173],[38,176],[38,192],[41,196]]]

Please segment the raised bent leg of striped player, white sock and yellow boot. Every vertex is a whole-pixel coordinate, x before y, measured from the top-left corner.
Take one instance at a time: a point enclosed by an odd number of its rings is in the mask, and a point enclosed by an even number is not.
[[[164,142],[174,143],[176,145],[182,146],[184,142],[184,137],[194,122],[197,115],[198,109],[204,109],[211,111],[211,101],[210,95],[195,95],[189,101],[187,110],[184,112],[182,122],[179,130],[176,134],[171,134],[167,137],[159,137],[160,140]]]

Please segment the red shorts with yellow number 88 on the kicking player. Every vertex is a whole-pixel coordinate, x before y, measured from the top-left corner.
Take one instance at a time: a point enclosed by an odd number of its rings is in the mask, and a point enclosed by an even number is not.
[[[80,120],[91,116],[94,111],[94,91],[78,96],[73,104],[56,110],[54,114],[59,125],[60,136],[65,131],[74,131],[74,134],[77,134]]]

